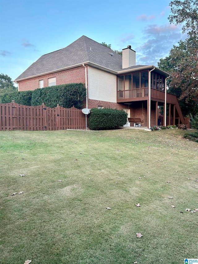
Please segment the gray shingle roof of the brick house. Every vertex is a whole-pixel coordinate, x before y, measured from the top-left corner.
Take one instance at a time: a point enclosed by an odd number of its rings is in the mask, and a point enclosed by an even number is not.
[[[111,56],[110,53],[112,53],[113,56]],[[56,50],[41,56],[36,62],[32,63],[27,70],[19,75],[16,81],[66,69],[85,62],[98,64],[101,67],[116,72],[123,70],[122,57],[115,53],[114,50],[86,36],[82,36],[64,49]],[[138,68],[140,65],[129,67],[129,69],[136,67]]]

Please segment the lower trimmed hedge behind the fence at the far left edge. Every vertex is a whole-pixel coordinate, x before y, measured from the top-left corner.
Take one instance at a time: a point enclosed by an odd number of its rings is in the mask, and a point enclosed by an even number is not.
[[[24,106],[31,106],[32,91],[23,91],[23,92],[13,92],[13,93],[4,93],[0,97],[0,103],[6,104],[11,103],[12,100],[15,100],[15,103]]]

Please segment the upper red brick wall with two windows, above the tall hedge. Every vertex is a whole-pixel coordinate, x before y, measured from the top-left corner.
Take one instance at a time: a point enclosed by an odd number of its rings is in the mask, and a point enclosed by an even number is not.
[[[56,85],[67,83],[85,83],[85,69],[79,67],[68,71],[48,74],[30,80],[19,82],[19,91],[29,91],[39,88],[39,81],[43,80],[44,87],[48,87],[48,79],[56,77]]]

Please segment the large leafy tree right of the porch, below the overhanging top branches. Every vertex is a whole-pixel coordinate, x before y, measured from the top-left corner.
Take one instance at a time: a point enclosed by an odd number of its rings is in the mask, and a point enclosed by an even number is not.
[[[161,58],[158,67],[171,74],[167,79],[168,92],[179,98],[184,115],[198,111],[198,54],[191,38],[179,41],[166,58]]]

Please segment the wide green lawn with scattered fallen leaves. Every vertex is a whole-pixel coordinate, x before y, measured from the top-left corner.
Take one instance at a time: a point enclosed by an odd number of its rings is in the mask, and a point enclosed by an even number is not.
[[[0,263],[198,258],[198,212],[185,211],[198,208],[198,144],[184,133],[0,132]]]

